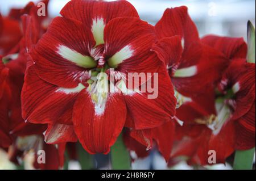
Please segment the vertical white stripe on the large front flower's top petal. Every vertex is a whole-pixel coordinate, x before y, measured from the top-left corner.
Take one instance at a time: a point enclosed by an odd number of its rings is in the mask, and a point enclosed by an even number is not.
[[[105,22],[103,18],[95,18],[92,23],[92,33],[94,40],[96,41],[96,46],[104,44],[104,28]]]

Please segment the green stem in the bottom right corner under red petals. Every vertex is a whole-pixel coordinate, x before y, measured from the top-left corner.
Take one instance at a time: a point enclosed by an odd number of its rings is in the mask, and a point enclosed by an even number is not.
[[[237,150],[234,158],[234,170],[251,170],[253,167],[253,158],[255,147],[250,150]]]

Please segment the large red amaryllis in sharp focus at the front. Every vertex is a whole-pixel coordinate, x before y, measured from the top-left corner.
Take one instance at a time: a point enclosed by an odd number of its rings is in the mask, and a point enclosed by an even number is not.
[[[108,153],[125,124],[152,128],[174,116],[170,79],[150,51],[154,27],[129,2],[77,0],[60,13],[30,52],[22,90],[23,117],[48,124],[49,144],[78,137],[89,153]],[[115,68],[118,92],[98,91],[110,84],[109,68]],[[159,73],[158,98],[147,99],[150,92],[141,91],[151,77],[127,91],[128,73]]]

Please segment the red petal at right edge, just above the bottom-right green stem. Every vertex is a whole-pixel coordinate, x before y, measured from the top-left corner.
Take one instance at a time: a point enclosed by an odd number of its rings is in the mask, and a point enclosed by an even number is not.
[[[255,102],[250,111],[236,123],[236,149],[248,150],[255,147]]]

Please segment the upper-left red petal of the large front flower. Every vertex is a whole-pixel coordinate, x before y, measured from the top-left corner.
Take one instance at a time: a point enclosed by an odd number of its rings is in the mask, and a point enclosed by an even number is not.
[[[60,87],[76,87],[81,77],[88,78],[88,72],[85,68],[63,58],[60,54],[65,53],[65,50],[61,47],[83,56],[90,56],[94,44],[92,32],[81,23],[61,17],[53,19],[47,33],[31,52],[39,77]]]

